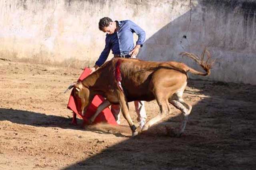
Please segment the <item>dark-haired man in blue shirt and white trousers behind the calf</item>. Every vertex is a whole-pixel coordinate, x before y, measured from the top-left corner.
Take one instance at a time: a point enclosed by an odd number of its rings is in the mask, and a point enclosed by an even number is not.
[[[135,58],[145,41],[145,31],[130,20],[112,21],[110,18],[104,17],[99,21],[99,29],[106,33],[106,44],[98,61],[96,61],[94,67],[91,68],[92,72],[106,61],[110,49],[112,50],[114,57]],[[135,47],[133,33],[138,35],[138,41],[136,42]],[[139,127],[142,128],[146,123],[147,118],[145,104],[143,101],[134,101],[134,106],[138,115],[137,121],[140,122]],[[117,123],[120,124],[120,106],[112,105],[111,111],[114,114]]]

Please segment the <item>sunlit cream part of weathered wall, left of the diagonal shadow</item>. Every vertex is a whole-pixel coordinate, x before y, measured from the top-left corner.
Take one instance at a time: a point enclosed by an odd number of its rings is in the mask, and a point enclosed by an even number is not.
[[[163,0],[0,0],[0,53],[57,61],[70,57],[96,61],[105,39],[105,34],[98,29],[100,18],[131,19],[146,29],[150,37],[186,12],[188,2],[184,3]],[[164,13],[171,15],[157,17]]]

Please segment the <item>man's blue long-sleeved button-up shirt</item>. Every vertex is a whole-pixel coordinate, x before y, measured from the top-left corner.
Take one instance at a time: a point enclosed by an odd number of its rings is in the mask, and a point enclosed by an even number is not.
[[[106,45],[96,65],[101,66],[110,53],[110,49],[114,55],[126,55],[134,49],[133,33],[138,35],[137,45],[142,45],[145,41],[146,33],[138,25],[130,20],[118,21],[118,30],[113,34],[106,35]]]

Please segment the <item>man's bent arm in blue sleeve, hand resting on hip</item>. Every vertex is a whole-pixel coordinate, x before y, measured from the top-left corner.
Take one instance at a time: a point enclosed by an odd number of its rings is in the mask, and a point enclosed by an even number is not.
[[[136,23],[129,21],[129,24],[131,31],[138,35],[138,41],[136,42],[134,49],[129,53],[129,55],[131,55],[131,58],[133,58],[136,57],[136,55],[139,53],[139,49],[140,47],[142,47],[142,44],[146,39],[146,33],[141,27],[136,25]]]

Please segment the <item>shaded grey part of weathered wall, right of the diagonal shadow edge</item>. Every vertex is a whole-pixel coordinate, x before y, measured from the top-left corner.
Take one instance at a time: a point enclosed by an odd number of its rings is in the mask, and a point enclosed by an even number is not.
[[[202,0],[191,8],[149,37],[142,59],[173,59],[198,68],[178,53],[200,54],[208,46],[220,60],[207,79],[256,84],[256,1]]]

